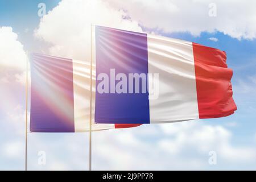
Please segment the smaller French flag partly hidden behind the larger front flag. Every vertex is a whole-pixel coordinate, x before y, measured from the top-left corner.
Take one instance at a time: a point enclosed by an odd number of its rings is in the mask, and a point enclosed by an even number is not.
[[[95,88],[95,72],[92,78]],[[94,103],[95,89],[92,96]],[[31,132],[89,131],[89,106],[90,64],[88,62],[38,53],[31,55]],[[94,113],[94,109],[92,111]],[[92,131],[134,126],[139,125],[95,125],[92,118]]]

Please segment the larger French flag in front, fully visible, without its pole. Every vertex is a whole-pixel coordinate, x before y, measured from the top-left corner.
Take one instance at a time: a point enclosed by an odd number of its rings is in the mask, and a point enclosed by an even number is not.
[[[96,123],[169,123],[226,117],[237,109],[230,82],[233,71],[224,51],[101,26],[95,27],[95,34],[96,77],[106,73],[110,78],[104,93],[103,79],[96,80]],[[118,73],[126,78],[131,73],[158,74],[157,88],[148,86],[146,93],[127,88],[118,93],[111,90],[111,84],[121,80],[119,76],[113,81]],[[140,81],[143,88],[143,77]],[[146,81],[154,85],[152,77]],[[157,97],[148,99],[157,90]]]

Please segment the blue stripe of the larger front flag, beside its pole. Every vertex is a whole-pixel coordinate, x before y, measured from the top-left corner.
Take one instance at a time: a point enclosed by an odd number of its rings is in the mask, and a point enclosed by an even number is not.
[[[108,75],[109,93],[98,92],[97,86],[101,80],[96,79],[95,121],[150,123],[148,92],[142,93],[140,90],[140,93],[111,93],[111,69],[115,70],[115,75],[125,73],[127,78],[129,73],[147,74],[147,35],[96,26],[96,77],[101,73]],[[114,84],[117,82],[119,81],[114,81]]]

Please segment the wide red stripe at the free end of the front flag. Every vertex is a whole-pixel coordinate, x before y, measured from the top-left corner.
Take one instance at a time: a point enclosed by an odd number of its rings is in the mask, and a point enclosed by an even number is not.
[[[237,106],[232,98],[232,69],[226,64],[226,52],[193,43],[199,118],[217,118],[233,114]]]

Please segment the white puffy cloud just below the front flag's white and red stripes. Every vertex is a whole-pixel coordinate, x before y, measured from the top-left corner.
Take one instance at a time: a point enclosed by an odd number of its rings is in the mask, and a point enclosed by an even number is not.
[[[177,153],[190,146],[201,154],[214,149],[222,159],[232,162],[249,162],[256,157],[254,154],[256,148],[232,146],[232,133],[223,126],[201,125],[200,122],[184,122],[179,123],[179,125],[161,125],[160,127],[168,136],[174,137],[174,139],[163,139],[162,142],[166,144],[165,146],[168,146],[167,143],[172,144]],[[170,133],[169,129],[176,132]]]

